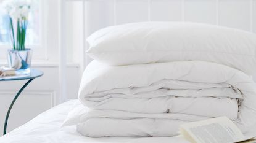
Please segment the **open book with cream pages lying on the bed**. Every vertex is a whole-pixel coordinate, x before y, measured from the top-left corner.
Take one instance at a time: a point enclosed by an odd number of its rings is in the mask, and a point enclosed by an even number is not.
[[[192,143],[256,142],[254,137],[246,138],[227,117],[185,123],[180,126],[180,134]]]

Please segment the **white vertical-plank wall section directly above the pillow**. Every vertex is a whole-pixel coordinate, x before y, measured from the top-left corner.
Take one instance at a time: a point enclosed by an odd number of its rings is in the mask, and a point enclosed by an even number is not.
[[[89,33],[139,21],[194,21],[255,31],[255,0],[91,0]]]

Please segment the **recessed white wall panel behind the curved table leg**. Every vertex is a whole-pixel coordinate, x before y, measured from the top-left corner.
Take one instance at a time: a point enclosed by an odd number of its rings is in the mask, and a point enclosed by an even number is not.
[[[0,92],[0,136],[4,128],[7,110],[15,94],[15,91]],[[12,131],[12,129],[17,128],[17,126],[28,122],[36,115],[53,107],[54,98],[55,94],[53,91],[23,92],[12,107],[7,124],[7,132]]]

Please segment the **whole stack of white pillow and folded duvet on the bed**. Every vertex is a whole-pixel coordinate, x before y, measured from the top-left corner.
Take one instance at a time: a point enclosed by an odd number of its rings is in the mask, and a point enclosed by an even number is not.
[[[249,76],[254,34],[196,23],[134,23],[102,29],[88,41],[97,61],[81,80],[78,98],[85,107],[75,107],[64,126],[77,125],[89,137],[163,137],[212,117],[226,116],[244,133],[256,123]],[[175,58],[173,51],[183,52]]]

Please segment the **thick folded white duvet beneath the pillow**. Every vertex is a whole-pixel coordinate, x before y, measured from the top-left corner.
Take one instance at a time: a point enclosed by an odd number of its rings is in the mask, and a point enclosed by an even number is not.
[[[256,85],[248,75],[221,64],[178,61],[117,67],[93,61],[84,72],[78,98],[96,110],[70,120],[85,136],[160,137],[173,136],[181,123],[196,121],[191,115],[199,120],[226,115],[245,133],[256,123],[255,95]],[[166,114],[176,118],[165,120]],[[105,125],[100,131],[99,121]]]

